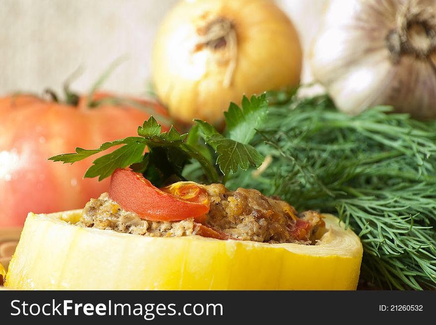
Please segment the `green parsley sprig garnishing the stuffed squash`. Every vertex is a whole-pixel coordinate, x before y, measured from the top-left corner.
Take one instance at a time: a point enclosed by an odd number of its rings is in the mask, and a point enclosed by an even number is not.
[[[144,174],[154,185],[162,186],[170,180],[184,180],[182,172],[185,165],[195,161],[203,169],[207,181],[217,183],[216,165],[226,176],[238,168],[246,170],[250,166],[259,167],[263,162],[264,157],[249,142],[256,134],[255,128],[264,122],[267,109],[266,94],[252,96],[251,100],[244,96],[241,108],[231,103],[225,113],[227,129],[224,134],[218,133],[209,123],[197,120],[189,137],[188,134],[180,134],[173,126],[168,132],[162,132],[162,126],[151,116],[138,127],[138,137],[106,142],[98,149],[76,148],[75,153],[60,154],[49,160],[72,164],[119,146],[94,160],[84,177],[102,180],[116,168],[130,167]],[[217,156],[215,162],[209,149],[201,143],[200,135],[203,143],[214,149]]]

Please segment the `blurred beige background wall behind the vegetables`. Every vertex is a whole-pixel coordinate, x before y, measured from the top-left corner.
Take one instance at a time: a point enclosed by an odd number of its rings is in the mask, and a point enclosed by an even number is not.
[[[126,61],[104,88],[144,93],[159,22],[176,1],[0,0],[0,95],[19,90],[41,93],[47,87],[59,91],[78,67],[83,73],[72,88],[87,91],[121,56]],[[318,28],[325,1],[276,1],[296,25],[305,48]]]

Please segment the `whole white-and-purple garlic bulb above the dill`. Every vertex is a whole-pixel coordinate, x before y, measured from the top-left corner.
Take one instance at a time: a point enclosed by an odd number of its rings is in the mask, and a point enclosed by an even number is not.
[[[436,118],[436,0],[332,0],[310,64],[341,111]]]

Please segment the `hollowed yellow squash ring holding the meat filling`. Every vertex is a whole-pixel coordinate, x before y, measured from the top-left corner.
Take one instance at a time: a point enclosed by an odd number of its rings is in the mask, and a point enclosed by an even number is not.
[[[81,210],[29,213],[5,286],[14,289],[348,289],[362,245],[326,215],[318,245],[145,237],[74,226]]]

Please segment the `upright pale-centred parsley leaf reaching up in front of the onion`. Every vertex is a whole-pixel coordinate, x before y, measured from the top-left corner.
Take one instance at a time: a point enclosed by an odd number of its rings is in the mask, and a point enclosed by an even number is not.
[[[268,113],[268,100],[266,93],[256,97],[242,98],[242,109],[235,103],[230,103],[227,112],[224,112],[228,138],[247,144],[256,134],[256,129],[264,123]]]

